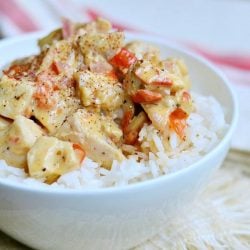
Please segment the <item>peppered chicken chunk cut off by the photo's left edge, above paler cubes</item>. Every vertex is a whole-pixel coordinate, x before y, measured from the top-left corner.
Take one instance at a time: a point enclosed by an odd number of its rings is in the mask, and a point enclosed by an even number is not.
[[[33,93],[32,83],[3,76],[0,82],[0,115],[11,119],[17,115],[29,117]]]

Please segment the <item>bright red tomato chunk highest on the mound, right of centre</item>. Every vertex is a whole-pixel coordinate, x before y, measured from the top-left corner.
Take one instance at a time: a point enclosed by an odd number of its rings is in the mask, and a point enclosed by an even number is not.
[[[135,54],[130,51],[122,48],[118,54],[116,54],[111,60],[110,63],[113,66],[118,68],[129,68],[132,64],[136,62],[137,58]]]

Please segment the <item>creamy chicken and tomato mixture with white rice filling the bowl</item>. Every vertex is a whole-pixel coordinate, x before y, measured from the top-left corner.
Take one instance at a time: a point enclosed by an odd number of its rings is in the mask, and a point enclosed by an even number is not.
[[[190,93],[182,59],[106,20],[64,20],[38,45],[1,77],[2,178],[124,185],[187,166],[223,134],[220,105]]]

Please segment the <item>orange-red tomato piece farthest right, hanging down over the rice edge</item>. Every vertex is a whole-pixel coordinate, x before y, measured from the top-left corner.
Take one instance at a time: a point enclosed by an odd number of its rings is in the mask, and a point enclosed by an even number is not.
[[[185,138],[187,118],[188,118],[188,114],[181,108],[175,109],[169,115],[170,128],[173,129],[182,140]]]

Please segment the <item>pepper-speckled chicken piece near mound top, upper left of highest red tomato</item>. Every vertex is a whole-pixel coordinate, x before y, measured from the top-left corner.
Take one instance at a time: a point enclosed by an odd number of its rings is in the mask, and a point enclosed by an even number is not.
[[[80,37],[79,45],[84,55],[92,50],[109,59],[123,46],[123,42],[123,32],[86,33]]]

